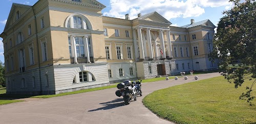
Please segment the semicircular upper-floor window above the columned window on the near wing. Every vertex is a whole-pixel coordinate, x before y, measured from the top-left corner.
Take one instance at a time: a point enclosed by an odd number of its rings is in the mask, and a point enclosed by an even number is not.
[[[79,13],[75,13],[67,18],[66,28],[92,30],[92,25],[86,16]]]

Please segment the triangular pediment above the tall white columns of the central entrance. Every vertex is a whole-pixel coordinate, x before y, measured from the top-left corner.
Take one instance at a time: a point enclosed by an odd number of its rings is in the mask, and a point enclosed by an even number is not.
[[[160,15],[157,12],[152,12],[152,13],[145,14],[141,17],[138,17],[138,19],[172,24],[170,21],[165,19],[162,15]]]

